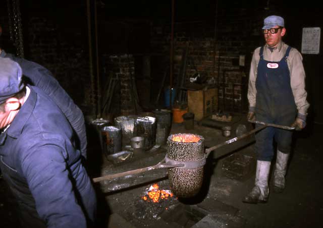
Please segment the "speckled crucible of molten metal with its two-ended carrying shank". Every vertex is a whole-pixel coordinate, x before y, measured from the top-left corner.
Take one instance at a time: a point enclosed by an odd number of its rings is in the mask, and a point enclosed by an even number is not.
[[[189,198],[196,195],[203,181],[204,164],[211,151],[222,146],[231,144],[254,134],[266,127],[275,127],[285,130],[294,130],[292,127],[256,122],[260,126],[241,135],[220,143],[216,146],[206,148],[204,152],[204,138],[195,134],[174,134],[167,140],[167,154],[163,160],[155,165],[130,170],[127,172],[112,174],[94,178],[93,182],[113,180],[128,175],[139,174],[158,168],[169,168],[168,176],[170,187],[177,197]]]

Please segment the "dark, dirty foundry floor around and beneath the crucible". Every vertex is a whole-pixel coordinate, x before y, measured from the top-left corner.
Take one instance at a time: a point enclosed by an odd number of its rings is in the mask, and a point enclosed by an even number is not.
[[[222,136],[221,130],[196,122],[193,130],[186,130],[183,124],[173,124],[171,134],[202,135],[208,148],[235,137],[234,130],[239,123],[245,124],[248,130],[252,129],[244,118],[240,118],[232,125],[232,135],[228,138]],[[286,189],[281,194],[271,192],[266,204],[242,203],[254,181],[255,153],[251,136],[212,152],[205,165],[203,187],[191,199],[173,197],[160,203],[141,199],[154,183],[160,189],[170,189],[167,169],[94,184],[98,197],[97,227],[323,227],[323,144],[320,128],[320,125],[309,125],[306,131],[295,133]],[[107,161],[95,146],[89,148],[89,153],[92,156],[89,157],[88,170],[90,176],[95,178],[154,165],[164,158],[166,147],[134,154],[130,160],[117,165]],[[251,158],[249,163],[238,171],[229,172],[226,164],[230,158],[241,156]],[[244,173],[239,175],[239,170]],[[4,186],[2,179],[0,186]],[[18,227],[15,214],[9,207],[8,201],[12,198],[5,195],[3,187],[0,191],[1,226]]]

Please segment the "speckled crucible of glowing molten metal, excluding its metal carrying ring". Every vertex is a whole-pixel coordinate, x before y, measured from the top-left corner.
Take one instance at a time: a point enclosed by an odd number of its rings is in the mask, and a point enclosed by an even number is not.
[[[174,134],[167,139],[167,156],[176,161],[198,161],[203,159],[204,138],[195,134]],[[177,197],[195,196],[202,187],[204,167],[191,169],[170,168],[170,187]]]

